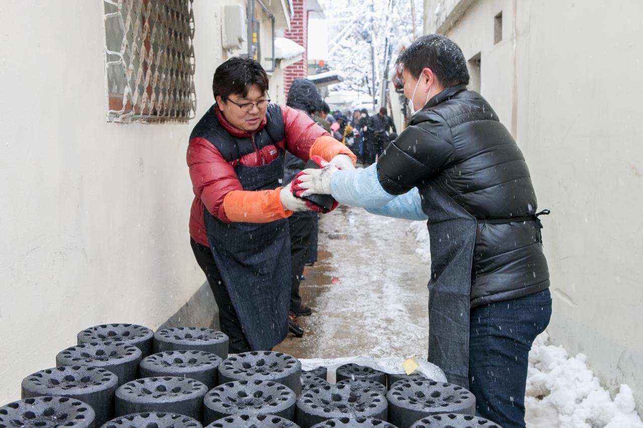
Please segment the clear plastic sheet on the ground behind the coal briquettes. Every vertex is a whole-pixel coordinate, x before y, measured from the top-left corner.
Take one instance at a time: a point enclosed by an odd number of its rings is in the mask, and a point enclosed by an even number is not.
[[[336,383],[336,370],[338,367],[343,366],[344,364],[354,363],[359,364],[360,366],[366,366],[373,368],[375,370],[383,371],[384,373],[389,373],[392,375],[400,375],[404,373],[402,368],[402,363],[406,359],[402,357],[385,357],[385,358],[374,358],[368,355],[358,355],[357,357],[341,357],[341,358],[311,358],[311,359],[300,359],[302,362],[302,370],[314,370],[318,367],[325,367],[328,370],[328,381],[331,384]],[[435,364],[431,364],[427,361],[418,361],[420,366],[413,373],[421,374],[422,376],[437,380],[438,382],[446,382],[446,376],[444,371],[440,369]]]

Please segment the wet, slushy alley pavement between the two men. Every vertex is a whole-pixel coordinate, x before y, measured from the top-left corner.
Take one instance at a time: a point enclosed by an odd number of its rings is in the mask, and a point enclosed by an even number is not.
[[[302,338],[275,350],[298,358],[426,357],[429,263],[410,222],[340,206],[320,218],[319,260],[300,292],[312,315]]]

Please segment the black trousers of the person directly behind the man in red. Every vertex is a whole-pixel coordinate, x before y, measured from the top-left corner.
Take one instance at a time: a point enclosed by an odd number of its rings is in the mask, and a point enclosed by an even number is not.
[[[292,312],[299,312],[302,307],[299,284],[302,281],[303,266],[312,241],[313,226],[311,211],[297,212],[288,217],[291,258],[290,310]]]

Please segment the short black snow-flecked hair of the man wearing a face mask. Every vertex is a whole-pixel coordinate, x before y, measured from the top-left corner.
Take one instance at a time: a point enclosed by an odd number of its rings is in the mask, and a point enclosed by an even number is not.
[[[453,40],[439,34],[429,34],[415,40],[395,61],[414,78],[419,78],[424,67],[435,73],[445,88],[469,84],[467,60]]]

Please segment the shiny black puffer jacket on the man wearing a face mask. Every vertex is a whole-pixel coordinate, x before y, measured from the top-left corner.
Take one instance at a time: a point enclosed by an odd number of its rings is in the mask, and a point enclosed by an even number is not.
[[[527,163],[480,94],[457,85],[431,98],[377,165],[386,192],[433,181],[478,220],[472,306],[549,287]]]

